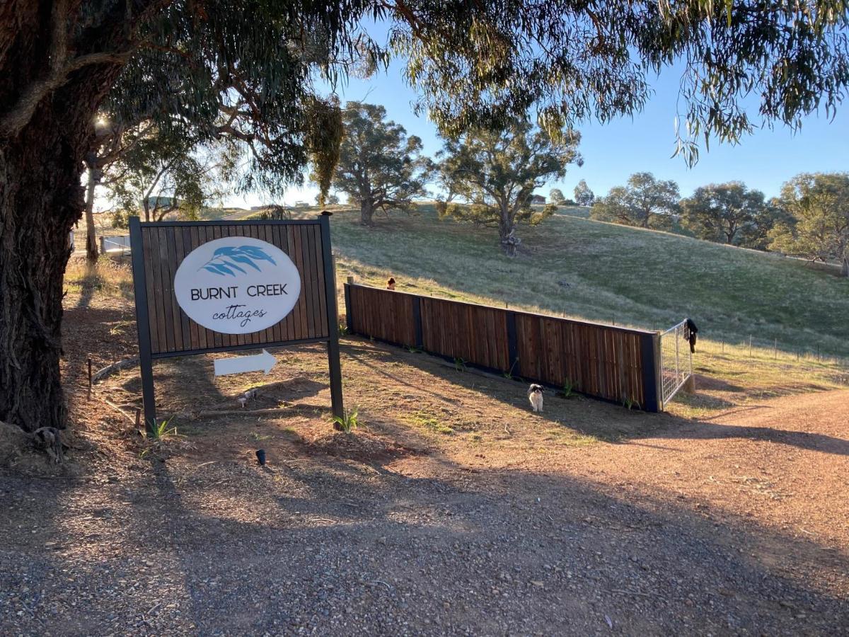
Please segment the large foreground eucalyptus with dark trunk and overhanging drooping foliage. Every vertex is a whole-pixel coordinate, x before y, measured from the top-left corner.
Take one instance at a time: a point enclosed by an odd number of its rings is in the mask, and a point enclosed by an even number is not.
[[[387,22],[377,46],[361,30]],[[549,132],[633,113],[646,76],[683,62],[679,149],[829,114],[849,81],[846,3],[681,0],[6,0],[0,3],[0,419],[64,426],[59,382],[67,233],[83,210],[94,119],[115,112],[254,151],[245,186],[329,179],[339,110],[315,94],[365,56],[408,61],[442,132],[537,110]],[[752,121],[743,107],[759,101]],[[230,118],[233,118],[232,120]],[[321,181],[321,180],[320,180]],[[325,180],[326,183],[326,180]]]

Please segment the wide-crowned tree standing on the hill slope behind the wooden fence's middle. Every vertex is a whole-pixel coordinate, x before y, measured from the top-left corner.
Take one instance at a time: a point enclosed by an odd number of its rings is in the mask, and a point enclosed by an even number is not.
[[[501,132],[481,130],[448,140],[441,170],[462,203],[441,202],[441,214],[497,227],[503,251],[514,256],[520,244],[516,223],[540,223],[556,208],[533,211],[534,189],[563,178],[569,164],[582,163],[576,150],[580,139],[573,131],[554,139],[519,121]]]

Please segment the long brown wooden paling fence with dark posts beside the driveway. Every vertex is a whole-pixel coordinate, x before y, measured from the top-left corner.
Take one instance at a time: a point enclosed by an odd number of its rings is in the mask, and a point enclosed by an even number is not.
[[[351,333],[659,411],[657,332],[345,285]]]

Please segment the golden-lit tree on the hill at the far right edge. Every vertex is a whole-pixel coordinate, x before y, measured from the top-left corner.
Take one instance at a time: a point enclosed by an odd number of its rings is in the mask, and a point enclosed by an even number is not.
[[[769,234],[773,250],[814,261],[836,261],[849,277],[849,173],[803,173],[781,189],[791,223]]]

